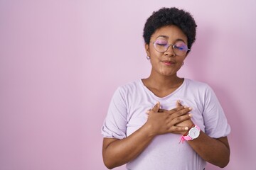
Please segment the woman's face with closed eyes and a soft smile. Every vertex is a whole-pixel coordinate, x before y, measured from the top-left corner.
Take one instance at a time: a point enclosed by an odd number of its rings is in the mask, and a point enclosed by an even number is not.
[[[161,43],[172,44],[166,50],[166,52],[159,52],[154,47],[154,43],[158,42],[156,45],[162,45]],[[173,48],[173,45],[188,45],[188,40],[186,35],[182,32],[177,26],[164,26],[155,31],[151,35],[149,45],[145,45],[146,54],[150,57],[152,64],[152,72],[161,74],[164,76],[173,76],[176,75],[178,70],[181,68],[183,61],[186,58],[187,53],[178,53],[176,46]],[[185,45],[185,46],[186,46]],[[167,45],[168,46],[168,45]],[[176,51],[176,53],[175,53]]]

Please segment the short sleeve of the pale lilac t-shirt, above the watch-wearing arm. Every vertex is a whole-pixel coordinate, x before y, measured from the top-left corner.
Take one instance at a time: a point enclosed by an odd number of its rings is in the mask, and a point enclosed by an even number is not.
[[[203,120],[205,132],[213,138],[225,137],[230,134],[230,125],[225,117],[223,108],[220,106],[218,98],[213,89],[207,86],[204,98]]]

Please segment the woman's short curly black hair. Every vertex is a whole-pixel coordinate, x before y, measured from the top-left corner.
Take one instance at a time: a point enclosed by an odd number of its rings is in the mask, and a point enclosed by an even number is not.
[[[188,48],[191,48],[196,40],[196,22],[191,13],[175,7],[161,8],[154,11],[146,20],[143,32],[144,42],[149,44],[151,35],[163,26],[175,25],[180,28],[188,38]]]

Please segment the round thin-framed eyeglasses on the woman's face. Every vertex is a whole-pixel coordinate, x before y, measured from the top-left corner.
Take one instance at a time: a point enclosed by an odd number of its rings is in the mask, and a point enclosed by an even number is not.
[[[166,52],[168,48],[172,45],[171,47],[174,50],[174,54],[178,56],[186,55],[188,50],[190,50],[188,49],[188,46],[182,41],[178,41],[175,44],[168,44],[167,40],[156,40],[155,42],[151,43],[154,44],[154,48],[158,52]]]

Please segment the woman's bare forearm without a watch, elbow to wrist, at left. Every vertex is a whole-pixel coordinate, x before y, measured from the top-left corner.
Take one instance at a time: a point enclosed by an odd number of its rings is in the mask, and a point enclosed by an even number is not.
[[[107,168],[112,169],[135,159],[150,144],[154,136],[143,125],[123,140],[114,140],[103,149],[103,159]]]

